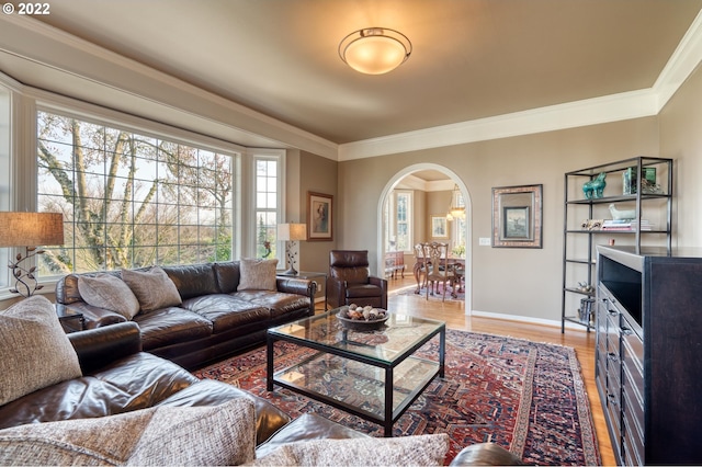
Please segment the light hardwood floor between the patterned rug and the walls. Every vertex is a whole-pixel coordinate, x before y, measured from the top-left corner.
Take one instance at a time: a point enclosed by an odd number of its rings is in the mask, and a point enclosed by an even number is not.
[[[612,444],[610,442],[602,405],[595,385],[595,333],[582,330],[566,329],[561,333],[561,327],[532,324],[521,321],[501,320],[492,318],[471,317],[465,315],[463,301],[427,301],[423,296],[396,295],[395,291],[416,285],[411,273],[405,273],[405,278],[389,278],[388,309],[401,310],[408,315],[422,316],[446,322],[451,329],[485,332],[489,334],[508,335],[512,338],[528,339],[535,342],[548,342],[574,348],[582,372],[586,390],[592,410],[592,420],[598,437],[602,465],[616,465]]]

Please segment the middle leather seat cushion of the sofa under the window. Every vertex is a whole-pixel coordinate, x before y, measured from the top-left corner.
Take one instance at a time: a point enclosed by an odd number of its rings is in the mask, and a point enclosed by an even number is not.
[[[190,298],[184,300],[182,306],[211,321],[214,333],[254,322],[265,322],[271,318],[265,306],[226,294]]]

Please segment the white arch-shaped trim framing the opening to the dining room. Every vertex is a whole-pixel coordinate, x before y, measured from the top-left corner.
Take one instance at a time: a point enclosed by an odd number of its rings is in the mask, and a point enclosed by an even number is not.
[[[383,187],[383,192],[381,193],[381,197],[377,205],[377,225],[381,227],[377,232],[377,271],[382,273],[385,270],[385,252],[386,252],[386,242],[385,242],[385,226],[387,223],[385,221],[386,216],[386,205],[388,203],[389,196],[393,191],[398,186],[398,184],[408,175],[411,175],[416,172],[422,171],[437,171],[446,175],[446,179],[450,180],[453,184],[455,184],[461,194],[463,195],[463,200],[465,202],[465,231],[463,232],[463,238],[465,238],[465,267],[466,267],[466,283],[465,283],[465,314],[469,315],[473,309],[473,241],[471,237],[471,225],[473,221],[473,209],[471,202],[471,194],[468,192],[467,186],[461,180],[461,178],[453,172],[451,169],[431,162],[422,162],[414,166],[409,166],[397,172]],[[446,206],[448,207],[448,206]]]

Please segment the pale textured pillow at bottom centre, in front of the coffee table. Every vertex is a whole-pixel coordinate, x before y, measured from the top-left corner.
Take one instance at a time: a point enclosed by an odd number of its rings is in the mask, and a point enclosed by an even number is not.
[[[442,466],[449,435],[312,440],[279,447],[256,466]]]

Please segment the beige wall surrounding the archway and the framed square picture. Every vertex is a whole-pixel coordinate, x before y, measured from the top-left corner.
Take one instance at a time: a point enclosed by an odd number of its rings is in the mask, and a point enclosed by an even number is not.
[[[454,171],[468,189],[473,303],[466,309],[559,321],[564,173],[658,156],[658,118],[647,117],[344,161],[339,163],[339,247],[367,248],[374,255],[376,209],[385,185],[404,168],[431,161]],[[479,247],[478,238],[490,237],[491,189],[537,183],[544,190],[544,248]],[[363,228],[358,228],[361,219]]]

